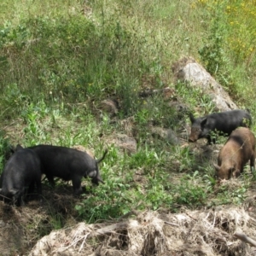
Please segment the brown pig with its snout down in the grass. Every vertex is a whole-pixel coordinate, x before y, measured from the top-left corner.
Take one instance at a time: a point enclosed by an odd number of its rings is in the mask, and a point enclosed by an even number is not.
[[[214,164],[218,179],[238,177],[250,160],[251,172],[255,163],[255,137],[248,128],[232,131],[218,154],[218,165]]]

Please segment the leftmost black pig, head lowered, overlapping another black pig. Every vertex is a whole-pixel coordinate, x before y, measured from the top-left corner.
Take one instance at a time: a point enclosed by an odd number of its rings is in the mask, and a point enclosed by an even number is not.
[[[41,164],[38,155],[32,149],[17,147],[4,166],[1,183],[0,195],[3,195],[4,201],[11,201],[17,206],[24,205],[25,190],[28,187],[32,192],[35,183],[38,195],[41,195]]]

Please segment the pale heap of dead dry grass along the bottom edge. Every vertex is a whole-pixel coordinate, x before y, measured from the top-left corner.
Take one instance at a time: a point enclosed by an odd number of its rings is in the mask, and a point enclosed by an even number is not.
[[[29,255],[256,255],[233,236],[239,230],[256,237],[255,212],[247,210],[141,212],[118,223],[79,223],[44,236]]]

